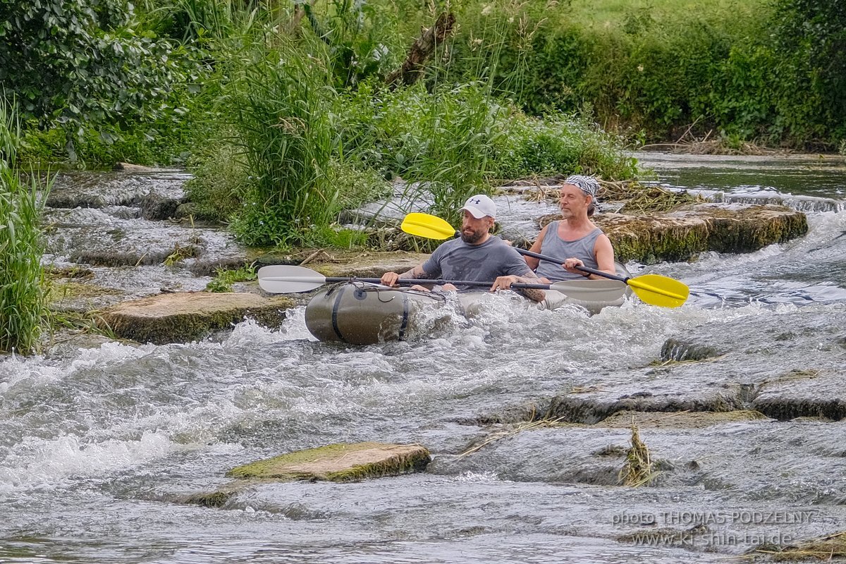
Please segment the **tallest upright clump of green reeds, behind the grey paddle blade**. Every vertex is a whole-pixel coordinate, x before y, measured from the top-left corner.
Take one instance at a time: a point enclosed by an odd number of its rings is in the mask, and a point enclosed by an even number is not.
[[[324,58],[290,41],[254,54],[222,99],[230,141],[250,174],[233,229],[247,244],[298,244],[331,220],[338,200],[327,182],[328,71]]]

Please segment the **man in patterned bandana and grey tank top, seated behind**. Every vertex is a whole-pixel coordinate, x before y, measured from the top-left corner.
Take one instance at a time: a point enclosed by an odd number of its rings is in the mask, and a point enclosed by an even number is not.
[[[591,222],[598,209],[596,178],[574,174],[564,180],[558,198],[563,219],[541,230],[531,251],[563,260],[563,264],[525,257],[526,263],[544,283],[601,278],[577,270],[576,266],[615,274],[614,249],[602,229]]]

